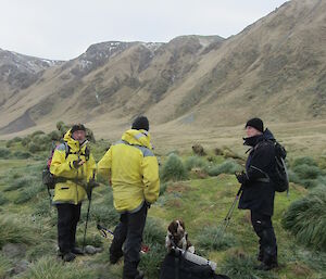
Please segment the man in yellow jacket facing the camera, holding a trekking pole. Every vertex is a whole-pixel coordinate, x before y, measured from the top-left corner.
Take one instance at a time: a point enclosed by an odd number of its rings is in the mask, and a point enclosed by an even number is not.
[[[96,162],[87,148],[86,129],[74,125],[52,156],[50,172],[55,177],[53,204],[58,208],[58,245],[63,261],[74,261],[83,251],[75,245],[86,185],[95,178]]]

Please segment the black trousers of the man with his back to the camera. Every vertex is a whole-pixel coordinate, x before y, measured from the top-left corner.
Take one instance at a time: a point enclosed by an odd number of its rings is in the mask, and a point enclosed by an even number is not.
[[[122,254],[124,244],[124,270],[123,279],[134,279],[140,262],[142,232],[146,224],[148,207],[146,203],[136,213],[124,213],[120,217],[120,224],[115,227],[113,241],[110,246],[110,256]]]

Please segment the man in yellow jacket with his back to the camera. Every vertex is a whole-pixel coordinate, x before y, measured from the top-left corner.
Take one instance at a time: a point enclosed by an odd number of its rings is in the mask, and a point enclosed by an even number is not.
[[[150,143],[149,122],[139,116],[122,140],[98,164],[100,175],[111,180],[115,210],[121,213],[110,246],[110,262],[124,255],[123,279],[141,279],[137,269],[147,211],[159,198],[159,164]],[[124,245],[124,252],[122,246]]]

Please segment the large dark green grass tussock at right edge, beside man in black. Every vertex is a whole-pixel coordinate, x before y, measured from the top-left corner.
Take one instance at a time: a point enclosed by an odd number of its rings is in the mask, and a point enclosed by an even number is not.
[[[304,245],[326,251],[326,187],[294,201],[285,213],[283,226]]]

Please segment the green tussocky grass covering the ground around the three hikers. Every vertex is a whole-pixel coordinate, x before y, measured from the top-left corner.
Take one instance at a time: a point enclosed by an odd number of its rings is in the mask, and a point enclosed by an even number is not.
[[[61,134],[60,130],[52,134],[58,132]],[[24,141],[27,142],[25,145]],[[30,263],[28,269],[15,278],[121,278],[123,262],[114,266],[109,264],[111,242],[97,230],[98,223],[113,230],[120,218],[113,207],[108,179],[102,179],[102,186],[95,189],[86,237],[86,244],[101,246],[103,252],[77,257],[74,263],[63,265],[57,257],[57,211],[50,206],[40,180],[49,148],[28,153],[32,142],[40,145],[50,143],[51,136],[37,131],[10,143],[2,142],[0,147],[0,248],[7,243],[23,243],[26,246],[24,258]],[[99,140],[90,147],[99,161],[110,142]],[[32,156],[20,155],[18,152],[27,152]],[[321,167],[321,158],[289,158],[289,175],[293,182],[290,195],[276,194],[273,217],[280,267],[261,272],[254,269],[259,264],[255,261],[259,243],[248,212],[236,210],[227,231],[220,231],[238,190],[234,173],[242,169],[238,163],[242,164],[242,161],[236,155],[226,158],[224,151],[223,155],[210,150],[205,152],[208,155],[204,156],[173,152],[161,157],[160,198],[149,210],[143,233],[143,243],[149,245],[150,251],[141,254],[139,266],[146,271],[146,277],[159,278],[166,253],[166,227],[172,219],[181,218],[197,253],[217,263],[216,272],[233,279],[325,278],[326,175]],[[200,169],[205,176],[196,176],[193,169]],[[77,228],[78,245],[83,244],[87,207],[86,201]],[[0,253],[0,278],[10,278],[16,264]]]

